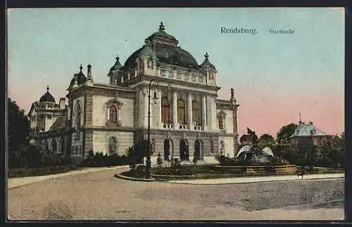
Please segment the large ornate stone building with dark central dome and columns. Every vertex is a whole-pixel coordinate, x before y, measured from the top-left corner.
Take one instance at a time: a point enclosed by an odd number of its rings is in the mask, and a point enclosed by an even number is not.
[[[68,105],[65,98],[56,104],[49,89],[33,103],[32,143],[73,160],[91,150],[122,155],[147,138],[150,119],[154,163],[158,153],[184,162],[213,162],[220,153],[234,157],[239,105],[233,89],[228,100],[217,98],[218,71],[209,57],[205,53],[199,64],[161,22],[123,65],[115,58],[108,84],[94,82],[91,65],[84,75],[81,65],[67,89]]]

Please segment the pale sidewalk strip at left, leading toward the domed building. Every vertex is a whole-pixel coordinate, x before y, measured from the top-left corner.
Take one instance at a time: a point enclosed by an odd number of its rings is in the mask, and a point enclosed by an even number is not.
[[[10,178],[7,180],[7,188],[16,188],[18,186],[24,186],[26,184],[38,182],[38,181],[44,181],[47,179],[56,179],[56,178],[61,178],[64,176],[73,176],[76,174],[86,174],[94,171],[102,171],[106,169],[121,169],[121,168],[126,168],[130,167],[129,165],[123,165],[123,166],[117,166],[117,167],[92,167],[92,168],[87,168],[87,169],[77,169],[73,171],[69,171],[67,173],[63,174],[53,174],[53,175],[45,175],[45,176],[27,176],[27,177],[16,177],[16,178]]]

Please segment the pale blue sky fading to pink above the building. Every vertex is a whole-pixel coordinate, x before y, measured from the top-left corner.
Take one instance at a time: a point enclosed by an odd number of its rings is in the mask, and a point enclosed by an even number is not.
[[[326,134],[344,131],[344,8],[9,9],[8,96],[28,112],[49,85],[58,102],[81,63],[108,83],[115,57],[125,63],[161,21],[199,64],[208,52],[218,98],[234,89],[240,136],[249,127],[275,137],[300,112]]]

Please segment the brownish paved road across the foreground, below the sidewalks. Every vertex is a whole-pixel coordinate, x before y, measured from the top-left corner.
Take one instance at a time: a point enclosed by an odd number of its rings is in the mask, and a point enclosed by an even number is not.
[[[16,220],[344,219],[344,179],[187,185],[114,178],[113,174],[120,171],[108,169],[11,188],[8,217]]]

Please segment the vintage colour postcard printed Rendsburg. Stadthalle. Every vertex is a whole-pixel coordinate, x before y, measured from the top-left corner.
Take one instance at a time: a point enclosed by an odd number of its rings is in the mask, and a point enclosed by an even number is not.
[[[344,219],[344,8],[10,8],[8,221]]]

